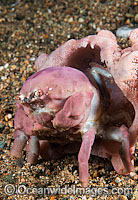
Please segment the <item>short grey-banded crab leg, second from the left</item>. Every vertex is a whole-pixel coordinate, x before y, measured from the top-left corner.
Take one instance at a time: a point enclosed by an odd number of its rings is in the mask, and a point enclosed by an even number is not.
[[[40,154],[40,144],[37,136],[31,136],[27,147],[27,162],[36,164]]]

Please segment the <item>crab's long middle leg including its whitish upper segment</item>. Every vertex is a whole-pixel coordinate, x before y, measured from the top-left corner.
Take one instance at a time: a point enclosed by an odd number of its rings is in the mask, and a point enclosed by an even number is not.
[[[99,93],[96,89],[94,89],[94,95],[91,101],[90,114],[87,119],[87,122],[83,126],[83,138],[82,144],[78,155],[79,161],[79,177],[82,182],[83,187],[87,187],[89,180],[88,173],[88,160],[91,153],[91,147],[93,146],[96,127],[99,123],[99,119],[101,116],[101,104]]]

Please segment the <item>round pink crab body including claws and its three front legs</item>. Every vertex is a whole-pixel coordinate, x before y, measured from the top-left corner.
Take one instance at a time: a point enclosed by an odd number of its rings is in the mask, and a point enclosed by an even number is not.
[[[94,124],[100,116],[98,97],[98,91],[88,78],[76,69],[53,67],[32,75],[19,95],[11,154],[21,156],[29,139],[28,162],[34,163],[40,153],[39,140],[63,145],[75,141],[81,143],[83,136],[85,144],[79,166],[85,186],[88,182],[88,158],[96,133]],[[88,151],[84,152],[86,147]]]

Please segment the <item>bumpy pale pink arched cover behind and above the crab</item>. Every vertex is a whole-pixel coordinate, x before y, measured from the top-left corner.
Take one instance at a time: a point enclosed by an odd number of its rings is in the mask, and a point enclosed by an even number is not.
[[[106,76],[108,70],[123,95],[134,107],[135,118],[129,128],[129,140],[134,149],[138,136],[138,29],[131,32],[129,39],[132,47],[123,50],[117,44],[115,35],[108,30],[101,30],[97,35],[90,35],[80,40],[71,39],[50,55],[41,54],[36,60],[35,68],[41,70],[55,65],[71,66],[83,71],[93,84],[89,69],[95,64],[100,66],[97,67],[99,69],[105,65],[107,69],[103,69],[102,76]],[[100,92],[105,93],[104,83],[97,74],[94,76],[102,89]],[[102,96],[105,98],[103,102],[109,103],[108,91]]]

